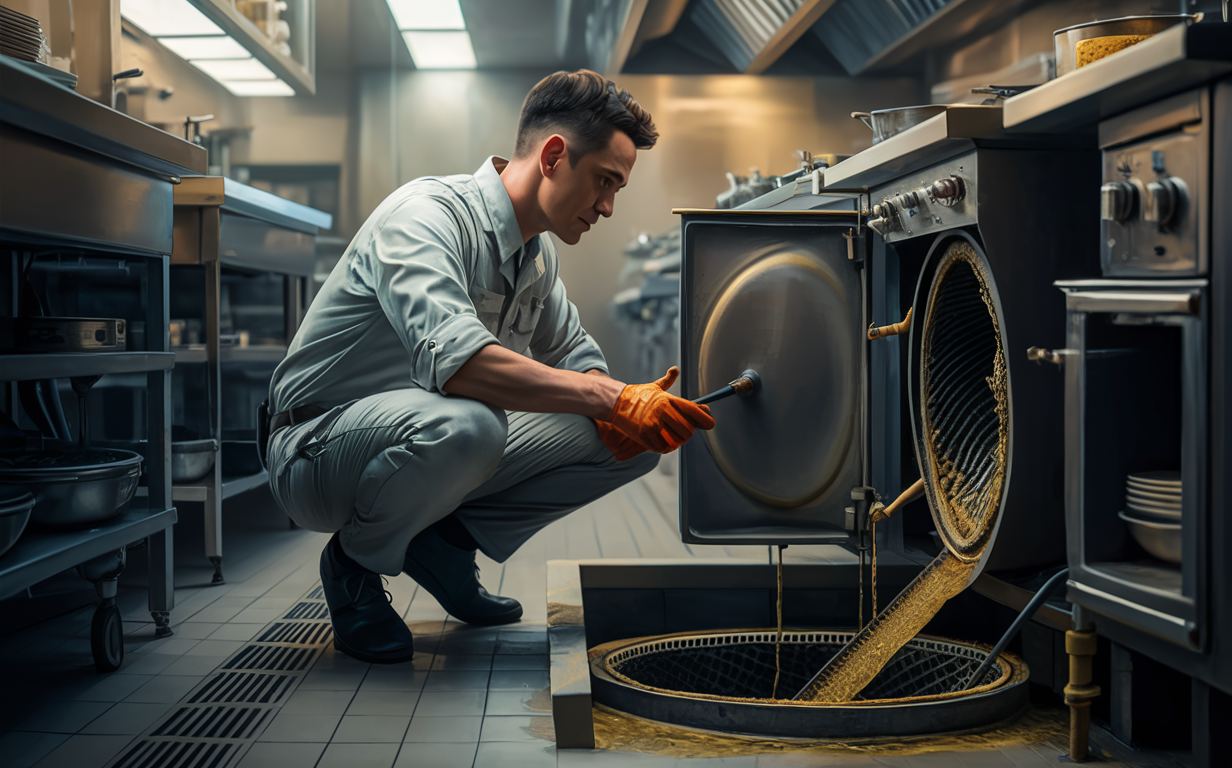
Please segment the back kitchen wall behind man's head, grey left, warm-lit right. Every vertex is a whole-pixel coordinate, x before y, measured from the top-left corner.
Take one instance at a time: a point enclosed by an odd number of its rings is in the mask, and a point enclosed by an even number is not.
[[[545,73],[370,71],[359,81],[356,202],[362,221],[398,185],[431,174],[472,173],[492,154],[509,157],[517,113]],[[848,78],[617,78],[653,115],[662,138],[638,153],[611,219],[561,249],[561,274],[583,323],[628,376],[607,304],[625,245],[641,232],[676,226],[673,207],[712,207],[724,173],[795,168],[792,152],[855,153],[869,145],[853,111],[915,104],[918,81]]]

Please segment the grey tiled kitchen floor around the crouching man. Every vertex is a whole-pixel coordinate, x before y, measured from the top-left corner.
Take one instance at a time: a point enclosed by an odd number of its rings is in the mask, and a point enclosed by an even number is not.
[[[94,599],[80,579],[57,577],[41,584],[34,599],[0,604],[0,625],[6,634],[0,645],[5,693],[0,697],[0,763],[6,768],[107,766],[266,625],[302,598],[313,598],[325,536],[288,530],[264,492],[227,507],[227,584],[208,586],[211,568],[201,556],[200,523],[200,512],[182,510],[176,528],[172,637],[153,636],[142,587],[143,558],[139,552],[131,557],[118,600],[126,621],[126,658],[115,673],[94,672],[89,651]],[[526,615],[519,624],[460,624],[405,576],[389,579],[393,605],[415,634],[414,661],[373,666],[335,652],[331,645],[313,650],[319,655],[296,678],[281,706],[271,710],[255,740],[244,743],[246,752],[238,764],[1032,768],[1058,762],[1062,750],[1055,745],[912,757],[853,752],[840,757],[678,759],[615,751],[557,752],[547,673],[546,561],[694,555],[769,557],[765,547],[705,547],[695,552],[681,544],[675,526],[674,477],[654,472],[545,529],[504,565],[480,557],[488,588],[522,600]],[[850,556],[823,547],[793,547],[791,557]]]

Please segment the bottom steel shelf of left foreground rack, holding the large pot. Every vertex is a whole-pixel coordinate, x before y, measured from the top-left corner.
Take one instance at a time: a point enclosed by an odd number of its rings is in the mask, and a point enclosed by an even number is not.
[[[0,598],[83,563],[166,530],[175,525],[176,510],[129,505],[118,517],[95,528],[71,531],[27,529],[11,550],[0,556]]]

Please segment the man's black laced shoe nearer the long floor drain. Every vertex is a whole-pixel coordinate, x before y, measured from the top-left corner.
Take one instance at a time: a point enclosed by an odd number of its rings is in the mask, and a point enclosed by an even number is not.
[[[338,534],[320,554],[320,586],[334,625],[334,646],[360,661],[394,664],[410,661],[410,629],[389,605],[381,574],[344,565]]]

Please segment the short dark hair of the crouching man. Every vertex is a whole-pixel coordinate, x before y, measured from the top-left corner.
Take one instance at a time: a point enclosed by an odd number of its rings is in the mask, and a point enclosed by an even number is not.
[[[589,69],[558,71],[538,81],[522,102],[514,157],[524,158],[549,133],[565,137],[569,165],[602,149],[616,131],[649,149],[659,138],[650,113],[628,91]]]

